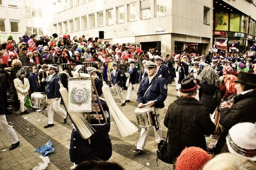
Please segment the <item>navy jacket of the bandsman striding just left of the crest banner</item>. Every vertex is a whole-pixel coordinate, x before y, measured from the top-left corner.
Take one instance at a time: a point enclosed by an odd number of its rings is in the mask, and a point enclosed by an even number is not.
[[[60,78],[58,75],[55,73],[52,78],[50,79],[50,76],[46,77],[46,94],[47,98],[60,98],[61,93],[60,93]]]

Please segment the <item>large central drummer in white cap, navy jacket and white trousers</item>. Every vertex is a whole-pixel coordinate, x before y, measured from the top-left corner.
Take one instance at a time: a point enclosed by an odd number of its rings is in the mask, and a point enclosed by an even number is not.
[[[147,61],[147,76],[141,80],[139,91],[137,93],[138,107],[144,107],[143,104],[155,108],[157,114],[157,119],[159,122],[159,129],[155,131],[155,140],[157,143],[163,139],[162,137],[162,126],[161,117],[164,114],[164,101],[167,97],[167,86],[166,80],[164,78],[156,76],[157,64],[154,62]],[[137,143],[137,148],[134,150],[136,153],[141,153],[144,151],[147,136],[149,135],[149,129],[141,128],[140,138]]]

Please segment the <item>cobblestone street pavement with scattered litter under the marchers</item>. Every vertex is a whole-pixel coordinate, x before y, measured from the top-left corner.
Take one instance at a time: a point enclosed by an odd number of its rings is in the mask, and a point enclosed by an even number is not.
[[[124,91],[126,95],[126,91]],[[177,92],[174,84],[168,85],[168,98],[165,101],[165,112],[169,104],[176,99]],[[114,97],[118,106],[121,105],[120,99]],[[132,91],[131,102],[126,103],[126,106],[121,107],[121,111],[134,124],[136,124],[135,109],[137,102],[135,93]],[[53,143],[53,151],[47,156],[50,158],[50,164],[47,169],[70,169],[73,163],[70,161],[69,147],[71,137],[71,122],[63,124],[61,116],[55,114],[55,126],[43,128],[48,123],[47,111],[35,112],[29,109],[29,114],[20,116],[19,111],[7,116],[7,121],[13,125],[20,145],[9,151],[11,142],[8,135],[0,128],[0,156],[3,158],[0,161],[0,169],[32,169],[42,162],[38,158],[41,154],[35,152],[36,148],[42,147],[47,141]],[[156,142],[154,137],[154,129],[150,128],[150,135],[147,138],[145,152],[136,154],[132,152],[136,148],[137,141],[140,137],[140,129],[132,136],[121,138],[116,128],[116,124],[111,119],[110,139],[112,142],[112,157],[110,162],[117,162],[125,169],[173,169],[172,164],[166,164],[158,161],[156,164]],[[163,136],[166,136],[167,128],[163,126]],[[206,137],[207,142],[215,142],[215,139]]]

